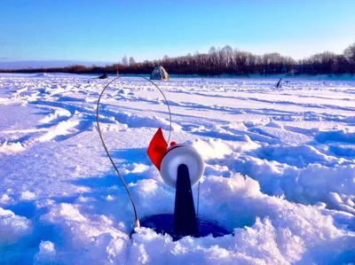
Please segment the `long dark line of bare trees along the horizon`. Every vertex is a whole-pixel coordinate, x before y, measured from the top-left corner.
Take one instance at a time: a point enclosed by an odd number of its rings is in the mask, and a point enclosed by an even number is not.
[[[7,73],[63,72],[73,74],[151,74],[154,66],[163,66],[169,74],[201,75],[244,75],[249,74],[355,74],[355,43],[343,54],[325,51],[310,58],[295,60],[280,53],[255,55],[226,45],[223,48],[211,47],[208,53],[196,51],[175,58],[136,62],[124,56],[122,62],[111,66],[67,66],[60,68],[28,68],[21,70],[1,70]]]

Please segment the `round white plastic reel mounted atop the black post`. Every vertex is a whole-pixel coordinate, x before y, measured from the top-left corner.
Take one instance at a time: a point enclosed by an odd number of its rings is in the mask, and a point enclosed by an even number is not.
[[[161,175],[165,183],[176,189],[177,168],[185,164],[189,170],[191,186],[198,183],[205,170],[204,162],[199,152],[187,144],[175,144],[168,148],[162,159]]]

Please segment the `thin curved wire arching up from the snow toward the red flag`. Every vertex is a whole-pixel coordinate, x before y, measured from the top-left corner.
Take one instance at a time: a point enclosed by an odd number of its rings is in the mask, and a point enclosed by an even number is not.
[[[152,82],[151,80],[147,79],[146,77],[144,76],[141,76],[141,75],[132,75],[133,77],[140,77],[140,78],[143,78],[145,79],[146,81],[148,82],[151,82],[152,84],[154,84],[154,86],[162,93],[162,97],[164,97],[165,99],[165,102],[168,106],[168,110],[169,110],[169,118],[170,118],[170,129],[169,129],[169,137],[168,137],[168,143],[170,142],[170,135],[171,135],[171,111],[170,111],[170,105],[169,105],[169,102],[168,102],[168,99],[165,97],[164,93],[162,92],[162,90],[154,83]],[[104,92],[105,90],[108,88],[108,86],[113,83],[114,81],[116,81],[118,78],[122,78],[122,77],[116,77],[114,78],[114,80],[112,80],[111,82],[108,82],[106,84],[106,86],[104,87],[104,89],[101,91],[101,93],[99,94],[99,99],[98,99],[98,105],[96,106],[96,123],[98,125],[98,130],[99,130],[99,137],[101,139],[101,143],[102,145],[104,146],[104,149],[105,149],[105,152],[106,152],[106,155],[108,157],[108,159],[111,161],[111,164],[114,166],[114,170],[115,172],[117,173],[117,175],[120,177],[122,183],[123,183],[123,186],[124,188],[126,189],[129,197],[130,197],[130,202],[132,204],[132,207],[133,207],[133,210],[134,210],[134,215],[135,215],[135,228],[139,228],[140,227],[140,223],[139,223],[139,220],[138,220],[138,214],[137,214],[137,208],[136,208],[136,205],[134,203],[134,200],[133,200],[133,197],[130,193],[130,189],[128,188],[127,184],[125,183],[121,173],[120,173],[120,170],[116,167],[116,165],[114,164],[114,160],[112,159],[111,155],[110,155],[110,152],[108,152],[108,149],[106,147],[106,144],[105,144],[105,140],[104,140],[104,137],[102,136],[102,132],[101,132],[101,129],[100,129],[100,126],[99,126],[99,104],[100,104],[100,100],[101,100],[101,97],[104,95]]]

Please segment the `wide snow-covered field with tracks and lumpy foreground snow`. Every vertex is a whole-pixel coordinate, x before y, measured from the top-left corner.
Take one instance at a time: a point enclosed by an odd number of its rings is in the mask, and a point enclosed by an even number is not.
[[[130,238],[130,200],[95,123],[107,80],[0,74],[0,264],[355,263],[355,81],[277,81],[156,82],[171,140],[206,163],[199,214],[231,232],[174,242]],[[168,133],[162,95],[120,78],[100,114],[138,217],[172,214],[175,191],[146,156]]]

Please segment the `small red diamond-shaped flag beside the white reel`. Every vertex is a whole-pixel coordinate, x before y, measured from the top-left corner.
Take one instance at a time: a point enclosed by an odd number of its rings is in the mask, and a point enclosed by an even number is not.
[[[146,153],[152,163],[156,168],[161,170],[162,159],[164,158],[165,152],[168,149],[168,143],[165,141],[164,136],[162,135],[162,128],[159,128],[155,135],[150,141]]]

